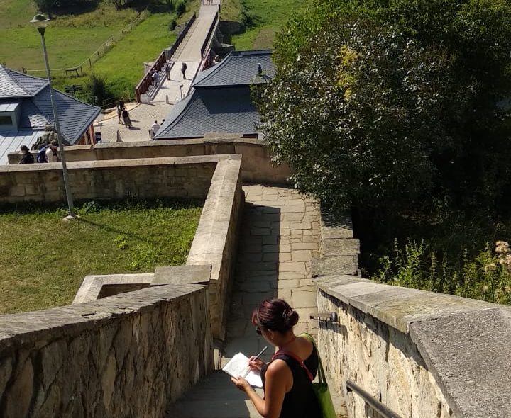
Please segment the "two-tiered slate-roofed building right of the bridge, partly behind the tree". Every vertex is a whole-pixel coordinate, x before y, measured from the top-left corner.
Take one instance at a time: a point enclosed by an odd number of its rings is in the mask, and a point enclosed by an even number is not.
[[[155,140],[202,138],[210,133],[257,137],[260,115],[250,86],[274,75],[270,50],[231,52],[197,75],[192,93],[172,108]]]

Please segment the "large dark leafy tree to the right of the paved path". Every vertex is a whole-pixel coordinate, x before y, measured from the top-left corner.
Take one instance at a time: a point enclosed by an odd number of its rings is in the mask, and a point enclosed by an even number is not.
[[[277,74],[255,92],[275,159],[344,208],[502,198],[510,22],[503,0],[318,1],[278,35]]]

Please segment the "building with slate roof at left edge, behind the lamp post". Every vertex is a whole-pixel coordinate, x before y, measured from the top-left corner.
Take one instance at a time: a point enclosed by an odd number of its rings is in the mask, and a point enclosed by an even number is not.
[[[72,145],[94,143],[92,123],[101,108],[53,89],[62,139]],[[47,79],[32,77],[0,65],[0,164],[21,145],[31,147],[53,125]]]

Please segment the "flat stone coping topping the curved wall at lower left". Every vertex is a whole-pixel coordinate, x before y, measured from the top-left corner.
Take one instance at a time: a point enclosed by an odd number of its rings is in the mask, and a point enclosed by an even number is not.
[[[74,337],[112,320],[143,313],[154,305],[180,300],[207,286],[169,284],[122,293],[88,303],[35,312],[0,315],[0,357],[37,341]]]

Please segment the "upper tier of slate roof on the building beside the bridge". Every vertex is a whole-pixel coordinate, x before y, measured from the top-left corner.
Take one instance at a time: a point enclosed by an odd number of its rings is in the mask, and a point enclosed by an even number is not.
[[[197,74],[192,86],[197,89],[263,83],[275,77],[271,54],[271,50],[231,52],[219,64]],[[263,69],[263,77],[258,77],[258,64]]]

